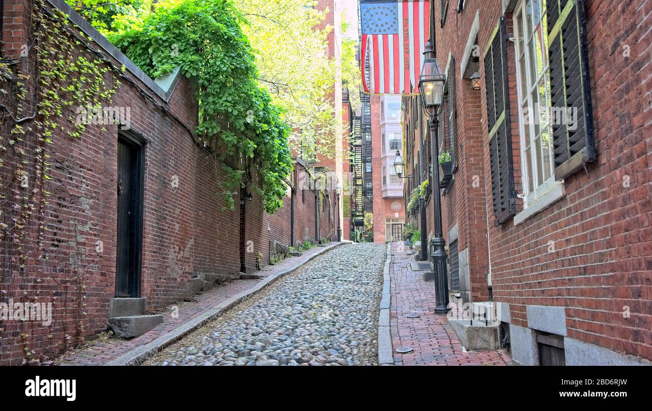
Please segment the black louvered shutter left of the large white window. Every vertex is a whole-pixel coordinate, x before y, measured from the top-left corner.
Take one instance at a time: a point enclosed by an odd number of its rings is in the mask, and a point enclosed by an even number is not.
[[[507,88],[507,32],[501,17],[484,53],[492,200],[497,224],[516,214],[512,138]]]

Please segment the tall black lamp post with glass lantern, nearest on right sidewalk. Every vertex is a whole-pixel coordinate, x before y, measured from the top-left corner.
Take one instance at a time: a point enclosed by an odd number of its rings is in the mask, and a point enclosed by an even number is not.
[[[434,56],[434,48],[430,41],[426,45],[426,58],[423,61],[423,69],[419,76],[419,93],[423,99],[428,117],[430,117],[430,141],[432,142],[432,194],[435,204],[435,236],[432,238],[432,265],[435,273],[435,312],[446,313],[450,309],[448,295],[448,274],[446,260],[446,241],[443,239],[441,224],[441,193],[439,190],[439,142],[437,141],[437,130],[439,129],[439,106],[443,102],[443,89],[446,82],[446,74],[441,71],[439,61]]]

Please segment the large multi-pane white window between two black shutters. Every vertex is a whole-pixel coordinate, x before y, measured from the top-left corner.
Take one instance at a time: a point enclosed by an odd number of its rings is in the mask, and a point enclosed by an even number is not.
[[[522,0],[515,8],[516,88],[526,207],[555,183],[546,21],[542,0]]]

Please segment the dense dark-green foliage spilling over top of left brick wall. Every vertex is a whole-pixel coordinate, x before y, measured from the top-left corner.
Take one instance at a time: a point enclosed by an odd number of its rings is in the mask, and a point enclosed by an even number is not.
[[[256,188],[265,211],[281,207],[292,167],[289,127],[258,84],[254,50],[241,30],[245,20],[233,1],[161,1],[153,12],[113,19],[106,36],[149,76],[178,66],[194,79],[200,109],[196,138],[238,162],[235,168],[222,166],[228,208],[235,209],[233,195],[252,181],[254,168],[261,175]]]

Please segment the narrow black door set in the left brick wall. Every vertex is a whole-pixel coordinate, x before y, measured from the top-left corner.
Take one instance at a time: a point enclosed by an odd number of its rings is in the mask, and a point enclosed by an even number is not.
[[[126,138],[118,142],[118,226],[115,296],[140,296],[142,147]]]

